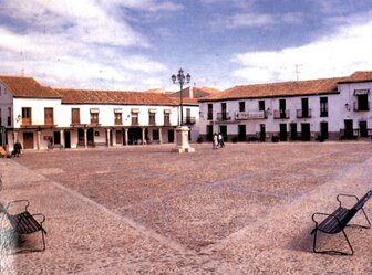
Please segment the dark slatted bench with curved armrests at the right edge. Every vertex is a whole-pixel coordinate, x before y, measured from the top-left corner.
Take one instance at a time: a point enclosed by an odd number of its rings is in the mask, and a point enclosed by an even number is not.
[[[349,197],[349,198],[354,198],[356,200],[356,203],[351,208],[344,208],[342,207],[342,202],[341,202],[341,198],[342,197]],[[354,254],[354,250],[351,246],[351,243],[348,239],[347,233],[344,232],[344,228],[345,226],[359,226],[359,228],[364,228],[364,229],[370,229],[371,228],[371,222],[368,218],[368,215],[365,214],[365,211],[363,209],[365,202],[372,197],[372,190],[370,190],[369,192],[366,192],[361,199],[358,199],[358,197],[355,195],[351,195],[351,194],[338,194],[337,200],[339,201],[339,208],[337,210],[334,210],[334,212],[332,214],[327,214],[327,213],[314,213],[312,214],[312,220],[316,223],[316,228],[311,231],[311,234],[314,234],[314,239],[313,239],[313,252],[314,253],[328,253],[328,254],[341,254],[341,255],[353,255]],[[359,224],[349,224],[349,222],[354,218],[354,215],[361,211],[362,214],[364,215],[368,225],[359,225]],[[317,220],[318,216],[326,216],[324,220],[322,220],[321,222],[319,222]],[[341,251],[335,251],[335,250],[331,250],[331,251],[318,251],[317,250],[317,233],[318,231],[323,232],[326,234],[337,234],[342,232],[348,245],[350,247],[351,252],[341,252]]]

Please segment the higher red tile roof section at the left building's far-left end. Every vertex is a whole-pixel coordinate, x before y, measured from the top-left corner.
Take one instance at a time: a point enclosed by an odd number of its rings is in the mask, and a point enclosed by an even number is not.
[[[60,98],[61,96],[51,87],[40,85],[32,77],[0,75],[2,82],[14,97],[27,98]]]

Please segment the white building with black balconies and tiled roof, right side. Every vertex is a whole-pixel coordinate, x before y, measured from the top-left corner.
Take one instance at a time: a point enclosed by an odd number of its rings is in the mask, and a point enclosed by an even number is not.
[[[199,99],[200,136],[211,140],[371,139],[372,72],[350,77],[236,86]]]

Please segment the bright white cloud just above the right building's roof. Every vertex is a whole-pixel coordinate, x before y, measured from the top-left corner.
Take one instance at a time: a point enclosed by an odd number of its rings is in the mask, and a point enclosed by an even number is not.
[[[358,70],[371,70],[372,20],[340,27],[332,34],[298,47],[281,51],[248,52],[231,60],[240,66],[235,77],[248,83],[292,81],[350,75]]]

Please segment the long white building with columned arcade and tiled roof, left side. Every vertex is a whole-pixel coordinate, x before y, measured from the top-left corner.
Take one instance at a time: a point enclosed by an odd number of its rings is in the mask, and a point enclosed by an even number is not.
[[[164,94],[53,89],[0,77],[0,142],[9,151],[17,140],[38,150],[175,142],[178,112]]]

